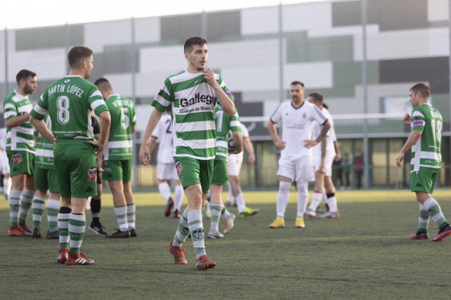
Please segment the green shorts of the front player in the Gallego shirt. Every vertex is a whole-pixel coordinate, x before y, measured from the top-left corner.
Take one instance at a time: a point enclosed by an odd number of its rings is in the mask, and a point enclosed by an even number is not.
[[[200,184],[202,193],[208,193],[213,175],[213,160],[201,160],[191,157],[174,157],[175,168],[183,188],[191,184]]]

